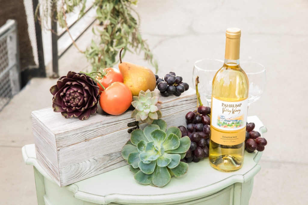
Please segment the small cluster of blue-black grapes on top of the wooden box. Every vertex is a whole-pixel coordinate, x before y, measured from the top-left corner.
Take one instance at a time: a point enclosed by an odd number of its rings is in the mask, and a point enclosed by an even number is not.
[[[182,82],[183,78],[176,76],[174,72],[166,74],[164,79],[159,78],[158,75],[155,75],[155,77],[157,89],[164,97],[168,97],[171,94],[180,96],[184,91],[189,89],[189,85]]]

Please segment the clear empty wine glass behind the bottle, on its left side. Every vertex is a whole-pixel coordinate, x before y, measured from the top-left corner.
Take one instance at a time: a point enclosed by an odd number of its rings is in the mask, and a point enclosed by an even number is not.
[[[211,106],[212,101],[213,78],[223,64],[224,61],[211,58],[201,59],[194,63],[193,87],[195,88],[196,77],[199,76],[200,83],[198,84],[198,91],[200,93],[201,101],[206,99],[208,106]]]

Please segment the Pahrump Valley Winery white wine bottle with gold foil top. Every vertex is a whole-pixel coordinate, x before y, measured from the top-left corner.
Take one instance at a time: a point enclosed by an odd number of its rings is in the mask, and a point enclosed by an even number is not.
[[[219,171],[238,170],[244,161],[249,83],[239,64],[240,37],[240,29],[227,29],[224,65],[212,84],[209,161]]]

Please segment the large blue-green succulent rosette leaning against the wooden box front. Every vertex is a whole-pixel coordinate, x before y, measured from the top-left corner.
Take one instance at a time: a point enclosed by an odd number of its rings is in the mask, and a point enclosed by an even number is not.
[[[171,176],[180,177],[188,170],[181,162],[190,147],[188,136],[182,137],[177,127],[170,127],[164,120],[153,120],[142,131],[136,129],[124,145],[121,154],[128,161],[138,183],[163,187]]]

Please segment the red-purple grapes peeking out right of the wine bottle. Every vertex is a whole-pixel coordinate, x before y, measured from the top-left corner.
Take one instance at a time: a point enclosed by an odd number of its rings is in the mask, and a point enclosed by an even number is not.
[[[260,132],[254,131],[255,124],[253,122],[246,124],[245,149],[252,153],[255,150],[262,152],[267,141],[261,137]]]

